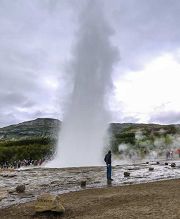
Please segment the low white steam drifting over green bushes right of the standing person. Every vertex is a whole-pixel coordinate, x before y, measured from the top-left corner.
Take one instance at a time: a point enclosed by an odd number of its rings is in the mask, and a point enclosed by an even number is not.
[[[116,156],[117,160],[136,161],[136,160],[154,160],[165,159],[167,151],[173,152],[173,157],[179,157],[180,149],[180,134],[165,134],[166,130],[160,129],[159,136],[153,136],[150,140],[150,136],[143,135],[141,130],[135,133],[135,144],[119,145],[119,156]]]

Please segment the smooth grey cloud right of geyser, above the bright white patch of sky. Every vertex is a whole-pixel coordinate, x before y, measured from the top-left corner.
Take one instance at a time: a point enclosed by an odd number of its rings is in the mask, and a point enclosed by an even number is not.
[[[114,6],[122,72],[140,69],[152,58],[180,47],[178,0],[114,1]]]

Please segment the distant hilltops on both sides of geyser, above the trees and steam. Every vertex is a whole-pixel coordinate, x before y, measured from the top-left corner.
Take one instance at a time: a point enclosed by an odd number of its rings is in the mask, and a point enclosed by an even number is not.
[[[57,139],[61,128],[61,121],[52,118],[37,118],[0,128],[0,140],[19,140],[29,138]],[[109,133],[114,137],[141,132],[143,135],[180,134],[180,125],[111,123]]]

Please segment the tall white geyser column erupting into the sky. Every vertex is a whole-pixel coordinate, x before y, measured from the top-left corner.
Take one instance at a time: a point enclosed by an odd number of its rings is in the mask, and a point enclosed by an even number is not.
[[[113,31],[101,7],[93,1],[80,13],[76,45],[69,64],[73,92],[57,152],[49,167],[93,166],[103,162],[109,122],[106,94],[111,88],[111,72],[118,52],[111,45]]]

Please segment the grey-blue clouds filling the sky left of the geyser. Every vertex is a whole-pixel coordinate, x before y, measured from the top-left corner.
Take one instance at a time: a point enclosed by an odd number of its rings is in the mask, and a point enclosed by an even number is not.
[[[43,80],[63,70],[74,31],[71,13],[63,0],[0,1],[0,126],[43,110],[57,116],[56,94]]]

